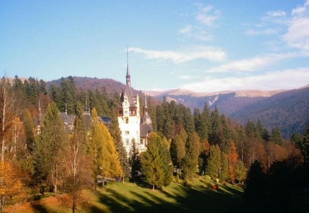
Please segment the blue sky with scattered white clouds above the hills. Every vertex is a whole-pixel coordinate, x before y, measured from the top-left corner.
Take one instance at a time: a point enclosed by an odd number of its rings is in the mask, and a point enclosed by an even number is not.
[[[0,72],[197,92],[309,84],[309,0],[0,1]]]

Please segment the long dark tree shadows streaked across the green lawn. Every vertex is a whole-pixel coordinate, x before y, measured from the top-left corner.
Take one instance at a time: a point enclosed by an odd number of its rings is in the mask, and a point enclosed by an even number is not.
[[[146,192],[130,191],[131,196],[121,195],[116,190],[106,188],[100,192],[100,202],[104,203],[107,212],[233,212],[242,205],[242,192],[224,186],[218,191],[176,185],[174,194],[165,190]],[[223,187],[223,186],[221,186]],[[229,191],[229,193],[227,193]],[[166,198],[166,199],[164,199]],[[92,212],[102,212],[93,207]]]

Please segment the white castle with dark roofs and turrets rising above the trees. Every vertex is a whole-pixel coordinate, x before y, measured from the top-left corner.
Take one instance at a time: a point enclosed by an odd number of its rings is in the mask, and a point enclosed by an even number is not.
[[[131,76],[127,61],[126,88],[122,90],[120,105],[117,108],[119,129],[122,131],[122,142],[129,154],[133,142],[139,152],[146,151],[148,137],[152,131],[151,118],[148,115],[148,107],[145,95],[144,116],[141,118],[139,109],[139,95],[133,95],[131,90]]]

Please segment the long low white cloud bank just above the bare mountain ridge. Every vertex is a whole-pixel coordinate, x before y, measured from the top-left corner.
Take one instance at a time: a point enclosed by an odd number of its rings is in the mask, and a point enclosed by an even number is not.
[[[309,67],[275,71],[250,77],[206,77],[202,82],[185,84],[183,89],[196,92],[222,90],[279,90],[305,86],[309,82]]]

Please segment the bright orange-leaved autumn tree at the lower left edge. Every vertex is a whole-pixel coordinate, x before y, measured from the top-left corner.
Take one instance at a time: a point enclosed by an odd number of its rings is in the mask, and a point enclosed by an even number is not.
[[[21,194],[21,181],[16,178],[9,162],[0,162],[0,212],[3,212],[5,198]]]

